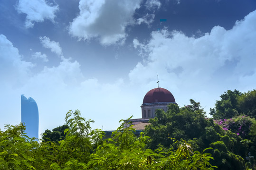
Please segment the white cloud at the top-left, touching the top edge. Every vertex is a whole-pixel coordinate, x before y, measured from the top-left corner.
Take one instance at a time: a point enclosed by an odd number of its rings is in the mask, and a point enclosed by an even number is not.
[[[54,22],[58,5],[53,6],[46,0],[19,0],[16,9],[19,13],[27,14],[25,26],[30,28],[35,22],[43,22],[46,19]]]

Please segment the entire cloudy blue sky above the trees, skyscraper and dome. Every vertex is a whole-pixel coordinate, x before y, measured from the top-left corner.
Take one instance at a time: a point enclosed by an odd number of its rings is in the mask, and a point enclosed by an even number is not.
[[[0,128],[19,124],[24,94],[39,134],[76,109],[115,130],[142,117],[157,75],[180,107],[209,113],[256,88],[255,63],[255,0],[0,0]]]

